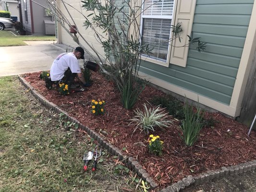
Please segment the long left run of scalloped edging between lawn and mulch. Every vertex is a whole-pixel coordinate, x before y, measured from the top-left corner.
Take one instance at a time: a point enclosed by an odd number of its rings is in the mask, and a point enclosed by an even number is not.
[[[151,189],[155,189],[158,187],[158,184],[149,176],[149,174],[146,172],[144,168],[139,164],[138,161],[136,161],[133,157],[129,157],[122,154],[122,151],[117,148],[116,146],[110,144],[108,141],[105,141],[103,138],[100,137],[100,135],[97,132],[94,132],[90,128],[86,127],[82,123],[80,123],[78,120],[76,120],[73,117],[70,117],[68,113],[61,108],[59,108],[54,103],[47,100],[45,97],[43,97],[41,94],[39,94],[28,82],[22,77],[18,76],[21,83],[32,93],[32,95],[38,99],[45,107],[51,108],[56,113],[63,113],[67,116],[67,119],[73,123],[77,123],[78,126],[87,132],[92,138],[94,138],[103,148],[107,149],[108,152],[113,156],[118,156],[121,161],[123,161],[128,168],[131,170],[134,170],[139,177],[142,178],[142,180],[146,181]]]

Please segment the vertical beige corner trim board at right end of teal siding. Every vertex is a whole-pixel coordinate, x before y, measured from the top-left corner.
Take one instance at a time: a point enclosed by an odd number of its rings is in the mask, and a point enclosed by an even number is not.
[[[241,108],[246,83],[248,80],[250,68],[252,65],[254,53],[256,50],[256,1],[254,2],[251,20],[249,23],[244,49],[240,60],[236,81],[231,97],[230,106],[232,108]],[[240,111],[238,115],[240,115]]]

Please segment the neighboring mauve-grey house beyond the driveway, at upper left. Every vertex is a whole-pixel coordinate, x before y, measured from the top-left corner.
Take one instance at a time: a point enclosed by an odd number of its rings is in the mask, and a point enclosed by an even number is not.
[[[45,0],[33,0],[48,7]],[[32,0],[18,0],[21,22],[26,35],[55,35],[55,19],[48,15],[45,8]]]

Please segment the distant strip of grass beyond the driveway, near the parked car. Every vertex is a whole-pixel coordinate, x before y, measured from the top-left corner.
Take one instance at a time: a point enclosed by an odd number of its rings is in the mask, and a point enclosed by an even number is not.
[[[54,41],[55,36],[14,36],[10,31],[0,31],[0,47],[27,45],[23,41]]]

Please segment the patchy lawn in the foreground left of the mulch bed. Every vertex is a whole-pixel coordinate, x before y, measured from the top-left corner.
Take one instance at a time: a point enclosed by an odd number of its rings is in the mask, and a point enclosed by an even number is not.
[[[107,151],[95,172],[92,162],[83,171],[83,155],[96,143],[38,104],[15,77],[1,77],[0,90],[0,192],[142,191]]]

